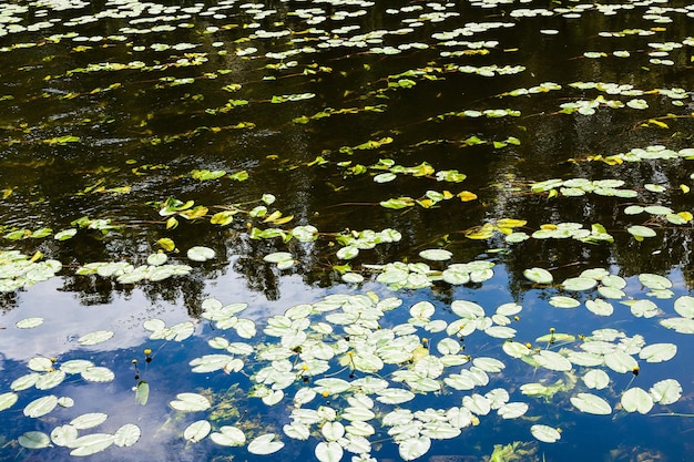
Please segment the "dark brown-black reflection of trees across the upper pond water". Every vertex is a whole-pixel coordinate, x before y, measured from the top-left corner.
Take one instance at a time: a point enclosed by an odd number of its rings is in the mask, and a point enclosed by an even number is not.
[[[145,48],[139,54],[130,45],[92,48],[80,53],[69,48],[37,48],[38,51],[27,49],[22,54],[24,62],[21,65],[42,63],[41,72],[54,78],[44,81],[43,74],[41,79],[32,74],[34,79],[22,83],[23,95],[12,90],[17,93],[17,111],[8,111],[3,123],[12,136],[22,137],[27,143],[11,146],[3,154],[8,160],[2,160],[0,179],[3,184],[17,186],[18,191],[2,202],[0,218],[18,227],[51,226],[55,230],[70,227],[70,222],[82,215],[111,218],[125,225],[123,230],[108,235],[80,230],[72,240],[41,244],[47,255],[67,264],[63,290],[79,294],[82,304],[108,304],[115,295],[126,295],[132,288],[120,286],[112,279],[72,276],[74,268],[84,263],[116,259],[143,264],[146,256],[157,249],[154,243],[161,237],[174,239],[182,251],[193,245],[208,245],[217,251],[214,261],[195,265],[190,277],[139,286],[152,302],[182,299],[193,316],[200,312],[205,296],[204,280],[218,278],[229,269],[247,280],[249,290],[263,292],[272,300],[278,299],[280,273],[263,261],[263,257],[272,251],[288,248],[298,260],[289,271],[300,274],[310,285],[334,284],[337,275],[330,266],[345,263],[335,257],[338,246],[330,245],[331,237],[320,237],[309,245],[296,242],[285,245],[278,238],[252,240],[246,234],[246,223],[261,228],[272,225],[263,223],[262,217],[252,219],[244,214],[225,228],[213,226],[205,218],[193,223],[182,219],[178,228],[164,229],[162,217],[145,204],[167,196],[215,206],[257,201],[263,194],[272,193],[277,196],[277,202],[269,208],[278,209],[285,216],[294,215],[286,227],[313,224],[322,233],[392,227],[402,233],[400,243],[364,250],[350,261],[356,269],[364,264],[418,260],[419,250],[441,246],[455,253],[456,261],[469,261],[480,256],[487,258],[489,254],[484,251],[490,244],[499,247],[507,244],[502,240],[469,242],[461,237],[462,232],[499,218],[527,219],[525,230],[529,233],[542,224],[580,222],[589,227],[592,223],[601,223],[614,235],[614,244],[595,246],[574,240],[535,239],[509,245],[509,250],[496,258],[507,265],[512,291],[517,295],[529,287],[522,270],[531,266],[555,268],[558,277],[568,277],[598,266],[619,267],[622,274],[633,275],[643,271],[664,274],[673,267],[688,265],[690,227],[659,229],[656,238],[637,243],[624,229],[646,217],[625,216],[623,208],[630,202],[627,199],[594,195],[548,198],[527,194],[528,183],[550,177],[620,178],[626,182],[626,187],[639,189],[640,202],[672,204],[675,212],[690,208],[688,196],[676,189],[690,179],[683,168],[686,161],[615,166],[567,162],[583,160],[591,154],[611,155],[643,147],[671,134],[670,131],[640,126],[642,120],[672,110],[669,101],[655,96],[649,99],[652,110],[647,112],[601,107],[590,116],[557,114],[562,102],[590,100],[600,94],[568,86],[580,80],[630,83],[641,90],[692,86],[691,75],[677,70],[653,68],[643,72],[641,65],[647,63],[645,53],[621,61],[621,65],[582,57],[584,51],[604,47],[605,42],[598,34],[600,31],[630,27],[634,18],[640,18],[634,16],[635,12],[624,12],[612,19],[586,13],[580,21],[559,17],[518,20],[511,29],[489,31],[483,37],[470,39],[498,39],[500,45],[487,55],[440,57],[442,48],[432,41],[431,33],[452,30],[467,21],[488,20],[486,11],[470,8],[466,9],[459,23],[452,20],[442,24],[427,23],[411,34],[386,35],[381,43],[398,45],[419,40],[433,45],[428,50],[388,57],[368,54],[364,49],[326,48],[277,60],[264,55],[292,50],[295,44],[290,40],[295,39],[306,39],[297,43],[317,45],[320,40],[335,35],[331,30],[343,22],[330,18],[334,7],[322,3],[327,16],[320,25],[325,31],[308,33],[304,20],[287,14],[295,7],[304,8],[304,2],[272,3],[278,12],[261,20],[261,27],[266,30],[287,28],[293,31],[290,39],[256,40],[244,28],[201,35],[198,31],[215,22],[200,17],[192,19],[195,27],[191,30],[133,39]],[[239,14],[235,18],[237,21],[251,21],[246,13],[236,10],[233,13]],[[368,14],[350,23],[374,31],[394,30],[402,25],[400,21],[399,17],[372,8]],[[538,35],[543,21],[549,21],[548,27],[557,28],[561,39]],[[683,21],[683,18],[677,19],[677,24],[681,30],[686,30]],[[85,34],[115,33],[127,23],[127,20],[114,20],[103,30],[92,24],[80,31]],[[674,34],[674,30],[669,28],[667,34]],[[198,66],[173,65],[186,53],[170,51],[162,54],[149,49],[164,39],[171,44],[195,42],[195,52],[204,53],[207,61]],[[681,39],[673,37],[673,40]],[[654,39],[635,38],[630,43],[636,49],[649,40]],[[215,41],[225,43],[226,54],[218,53],[213,45]],[[242,59],[234,52],[237,45],[257,45],[259,51],[253,59]],[[502,51],[517,45],[518,52]],[[12,53],[6,54],[10,58],[3,58],[2,63],[8,64],[8,69],[20,65]],[[44,60],[47,57],[54,59]],[[60,76],[93,62],[125,63],[134,59],[147,65],[163,65],[146,72],[130,69]],[[279,64],[289,61],[296,61],[296,65],[280,69]],[[437,70],[430,71],[431,80],[414,78],[416,85],[411,89],[388,88],[389,81],[394,80],[391,75],[410,70],[443,69],[446,64],[507,63],[521,63],[527,66],[527,72],[486,78]],[[271,69],[273,65],[275,68]],[[319,68],[325,69],[317,71]],[[188,76],[194,78],[190,86],[162,86],[161,79]],[[558,82],[563,90],[528,97],[494,96],[543,81]],[[121,86],[111,93],[91,93],[111,84]],[[241,88],[227,91],[229,84]],[[68,93],[76,96],[61,97]],[[316,96],[286,104],[269,102],[274,95],[292,93]],[[621,96],[605,97],[624,100]],[[214,111],[236,99],[247,100],[248,104],[227,112]],[[377,104],[385,104],[387,110],[382,113],[358,112]],[[305,125],[293,122],[295,117],[309,117],[326,107],[353,107],[357,112],[312,120]],[[520,111],[521,117],[437,117],[447,112],[506,107]],[[254,123],[255,129],[214,130],[243,121]],[[691,131],[691,122],[669,123],[677,127],[678,137],[662,142],[684,146],[688,141],[683,133]],[[20,130],[22,124],[28,125],[28,133]],[[37,144],[39,140],[65,134],[82,140],[67,146]],[[176,140],[166,138],[177,135]],[[376,150],[345,150],[384,136],[394,137],[394,143]],[[463,141],[470,136],[486,141],[516,136],[521,145],[469,147]],[[327,164],[308,166],[318,155],[323,155]],[[346,173],[355,165],[372,165],[380,158],[392,158],[404,166],[429,162],[437,171],[455,168],[466,173],[468,178],[461,184],[446,184],[431,177],[400,175],[390,184],[378,185],[372,182],[372,172],[356,176]],[[228,178],[197,182],[188,175],[193,168],[247,170],[249,178],[245,182]],[[130,186],[131,191],[120,195],[85,191],[100,182],[105,188]],[[669,192],[650,194],[642,191],[646,183],[666,186]],[[517,187],[520,189],[514,189]],[[428,189],[450,189],[453,194],[470,189],[479,199],[471,203],[452,199],[431,209],[416,206],[388,211],[377,205],[390,197],[421,197]],[[25,246],[31,253],[31,244],[19,243],[17,246]],[[186,261],[183,256],[173,255],[172,258]],[[685,279],[690,281],[688,273],[685,273]],[[448,297],[447,289],[441,291],[442,297]],[[4,295],[0,305],[9,307],[16,300],[16,295]]]

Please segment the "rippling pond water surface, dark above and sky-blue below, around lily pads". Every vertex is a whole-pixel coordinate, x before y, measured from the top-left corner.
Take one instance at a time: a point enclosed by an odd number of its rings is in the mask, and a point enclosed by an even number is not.
[[[610,384],[591,391],[580,381],[589,368],[574,366],[567,373],[538,368],[507,356],[503,339],[477,331],[465,339],[466,353],[498,358],[506,369],[473,392],[503,388],[511,401],[527,402],[529,410],[509,420],[494,411],[479,415],[479,425],[463,428],[458,438],[433,440],[422,460],[482,461],[496,444],[517,441],[527,442],[532,454],[517,451],[517,459],[492,460],[687,460],[690,417],[664,414],[692,412],[688,351],[694,346],[690,335],[659,322],[682,315],[675,312],[674,300],[692,288],[687,213],[694,213],[694,193],[688,193],[694,153],[686,150],[694,147],[694,9],[686,2],[37,1],[6,3],[0,11],[0,250],[29,257],[40,251],[42,259],[62,264],[47,281],[0,294],[0,394],[29,372],[27,362],[37,356],[55,357],[57,365],[89,359],[115,372],[106,383],[71,376],[53,390],[18,391],[19,401],[0,411],[6,429],[0,432],[0,460],[71,459],[70,449],[22,449],[18,438],[27,431],[50,434],[86,412],[105,412],[109,419],[85,433],[113,433],[125,423],[142,431],[133,448],[111,448],[93,460],[264,458],[245,448],[220,446],[210,438],[186,442],[184,429],[198,419],[210,420],[213,431],[238,425],[248,440],[277,433],[286,445],[268,456],[315,458],[314,448],[324,441],[318,428],[307,441],[283,434],[290,399],[268,407],[247,398],[251,376],[262,361],[249,361],[246,374],[191,372],[188,362],[214,353],[207,340],[222,335],[214,322],[201,318],[204,300],[247,302],[243,316],[258,328],[248,343],[257,346],[267,341],[263,327],[274,315],[315,304],[327,294],[369,290],[380,299],[404,300],[380,320],[382,329],[407,324],[407,310],[417,301],[431,301],[436,318],[448,324],[457,319],[453,300],[474,301],[489,317],[498,306],[514,301],[523,309],[510,327],[518,331],[514,340],[523,343],[534,343],[550,329],[590,337],[595,329],[612,328],[629,337],[641,335],[646,345],[677,348],[664,362],[630,352],[639,360],[637,377],[603,365]],[[592,110],[580,113],[581,102]],[[574,112],[571,106],[562,112],[572,103]],[[672,155],[653,154],[639,162],[631,162],[633,155],[619,157],[632,150]],[[375,176],[386,172],[378,168],[381,160],[431,168],[395,170],[394,181],[378,183]],[[197,179],[194,172],[203,170],[225,174]],[[460,183],[437,179],[437,173],[447,171],[467,177]],[[575,196],[530,187],[550,178],[620,179],[621,189],[635,193]],[[450,197],[431,204],[427,197],[435,196],[432,191],[449,192]],[[465,192],[461,201],[458,194]],[[263,203],[267,194],[276,202]],[[398,197],[420,203],[401,209],[380,205]],[[159,213],[167,198],[207,208],[193,218],[174,215],[177,225],[167,226],[167,216]],[[253,216],[249,212],[259,205],[266,205],[267,214]],[[670,207],[680,218],[625,212],[633,205]],[[222,211],[237,213],[224,225],[211,223]],[[293,218],[266,219],[275,211]],[[75,222],[81,217],[86,218]],[[590,230],[600,224],[611,239],[530,237],[509,243],[499,229],[470,238],[484,224],[504,218],[525,222],[513,230],[529,236],[543,225],[578,223]],[[95,220],[110,220],[113,228],[102,230],[104,222]],[[315,242],[254,238],[268,228],[287,236],[307,225],[320,233]],[[655,236],[636,239],[627,232],[634,225],[655,230]],[[50,232],[31,237],[42,228]],[[349,236],[386,228],[401,238],[361,249],[349,260],[337,254]],[[68,229],[75,230],[74,237],[54,238]],[[165,249],[163,238],[172,239],[176,249]],[[186,253],[194,246],[213,249],[215,257],[192,261]],[[427,261],[419,256],[431,248],[446,248],[452,258]],[[190,265],[191,271],[136,284],[80,274],[89,263],[145,265],[149,255],[161,250],[169,263]],[[280,270],[264,260],[275,251],[289,251],[295,265]],[[426,261],[440,271],[476,260],[494,264],[493,277],[397,291],[379,284],[379,269],[372,267]],[[0,257],[0,265],[7,264]],[[339,267],[346,264],[364,284],[341,280]],[[532,267],[551,270],[554,283],[528,280],[523,271]],[[595,289],[561,286],[591,268],[606,268],[627,283],[623,297],[609,300],[611,316],[586,310],[586,300],[601,297]],[[672,292],[650,292],[637,278],[642,274],[667,277]],[[581,307],[555,308],[549,304],[555,295],[572,297]],[[660,311],[634,316],[629,304],[642,299]],[[16,327],[30,317],[44,322],[29,330]],[[167,326],[195,321],[195,335],[181,342],[151,340],[143,328],[151,318]],[[319,318],[314,314],[312,321]],[[350,336],[343,327],[336,329],[337,337]],[[96,346],[78,345],[95,330],[113,331],[114,337]],[[233,330],[224,335],[229,341],[246,341]],[[417,336],[433,346],[447,332],[420,328]],[[581,343],[568,348],[576,350]],[[144,349],[152,349],[154,357],[146,370]],[[554,345],[547,349],[560,351]],[[134,399],[132,359],[139,359],[141,379],[151,387],[144,407]],[[325,374],[351,379],[349,371],[338,372],[337,361],[330,367]],[[396,369],[381,374],[389,377]],[[547,401],[520,390],[524,383],[560,379],[578,384]],[[644,415],[619,409],[630,387],[647,391],[664,379],[682,386],[675,403],[656,403]],[[285,392],[290,397],[302,387],[310,382],[297,380]],[[171,409],[177,393],[193,391],[211,397],[215,407],[231,404],[185,414]],[[603,396],[614,409],[609,415],[582,413],[570,401],[579,392]],[[70,397],[75,404],[40,418],[22,413],[29,402],[50,393]],[[447,410],[470,393],[443,386],[400,405],[377,403],[370,423],[378,427],[395,408]],[[322,399],[307,405],[322,405]],[[347,405],[345,396],[329,401],[323,405]],[[533,424],[560,428],[561,440],[534,440]],[[398,460],[386,431],[378,427],[369,437],[370,454]],[[345,452],[344,460],[350,456]]]

